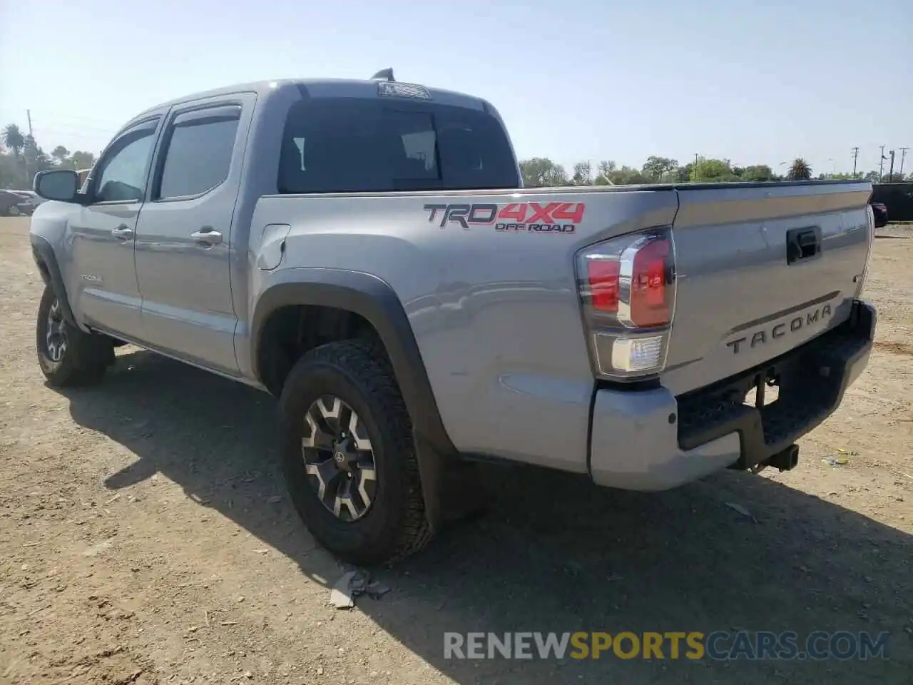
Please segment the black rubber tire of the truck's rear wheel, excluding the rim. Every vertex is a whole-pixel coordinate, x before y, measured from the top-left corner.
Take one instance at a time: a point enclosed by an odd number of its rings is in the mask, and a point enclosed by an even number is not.
[[[373,447],[377,490],[356,521],[341,521],[310,484],[302,453],[305,414],[334,395],[364,421]],[[295,364],[279,397],[281,458],[289,495],[318,543],[343,561],[382,564],[417,552],[431,539],[412,424],[393,370],[370,342],[330,342]]]

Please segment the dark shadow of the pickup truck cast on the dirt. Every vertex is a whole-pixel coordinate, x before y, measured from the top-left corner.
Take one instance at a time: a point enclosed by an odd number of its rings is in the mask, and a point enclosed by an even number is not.
[[[68,391],[79,425],[137,462],[112,490],[155,473],[294,560],[341,573],[284,494],[270,397],[152,353],[121,354],[98,390]],[[806,456],[808,458],[808,456]],[[820,455],[819,455],[820,458]],[[835,487],[836,489],[836,487]],[[394,591],[358,611],[458,683],[901,682],[913,620],[910,538],[770,479],[734,472],[658,494],[511,469],[488,515],[381,569]],[[727,506],[737,503],[742,508]],[[746,515],[745,511],[748,512]],[[887,630],[868,661],[445,659],[445,631]],[[722,643],[724,645],[728,642]],[[621,677],[619,679],[619,677]],[[693,679],[693,680],[692,680]]]

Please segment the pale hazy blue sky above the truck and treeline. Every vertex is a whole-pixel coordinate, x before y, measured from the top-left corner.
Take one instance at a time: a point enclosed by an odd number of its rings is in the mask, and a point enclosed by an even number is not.
[[[98,152],[235,82],[396,78],[491,100],[520,157],[805,157],[913,147],[913,0],[0,0],[0,125]],[[830,160],[834,160],[834,162]],[[913,171],[913,152],[905,171]]]

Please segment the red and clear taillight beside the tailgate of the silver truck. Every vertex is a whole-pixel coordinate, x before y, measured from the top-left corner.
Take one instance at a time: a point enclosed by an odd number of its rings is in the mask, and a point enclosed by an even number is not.
[[[595,373],[633,381],[662,371],[675,305],[671,229],[585,248],[577,256],[577,274]]]

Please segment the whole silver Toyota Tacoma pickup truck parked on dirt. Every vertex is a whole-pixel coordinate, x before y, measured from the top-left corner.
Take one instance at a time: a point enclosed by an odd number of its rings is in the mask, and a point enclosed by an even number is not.
[[[275,395],[355,563],[427,542],[473,460],[792,469],[871,349],[871,185],[520,186],[494,107],[392,73],[166,102],[36,177],[38,361],[87,384],[131,343]]]

